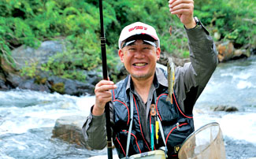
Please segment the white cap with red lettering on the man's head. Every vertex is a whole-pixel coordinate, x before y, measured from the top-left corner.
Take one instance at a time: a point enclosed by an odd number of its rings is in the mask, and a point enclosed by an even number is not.
[[[157,32],[153,27],[148,24],[144,24],[142,22],[135,22],[133,24],[129,24],[128,26],[124,27],[121,31],[118,46],[121,49],[121,43],[125,40],[130,38],[133,35],[150,35],[156,41],[158,41],[158,46],[160,46],[160,39],[158,38]]]

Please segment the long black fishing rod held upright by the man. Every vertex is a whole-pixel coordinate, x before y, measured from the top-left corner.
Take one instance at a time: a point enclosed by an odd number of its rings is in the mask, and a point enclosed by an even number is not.
[[[104,34],[104,24],[103,24],[103,9],[102,9],[102,0],[99,0],[99,17],[101,23],[101,48],[102,48],[102,73],[103,79],[108,80],[108,70],[106,64],[106,39]],[[105,105],[106,113],[106,146],[108,150],[108,158],[113,158],[112,153],[112,140],[111,140],[111,130],[110,130],[110,115],[109,115],[109,102]]]

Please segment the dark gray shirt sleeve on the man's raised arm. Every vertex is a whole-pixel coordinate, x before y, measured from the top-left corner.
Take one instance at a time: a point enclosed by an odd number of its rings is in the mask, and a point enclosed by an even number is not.
[[[191,62],[176,68],[175,93],[184,113],[192,114],[196,100],[217,67],[217,50],[203,25],[186,32]]]

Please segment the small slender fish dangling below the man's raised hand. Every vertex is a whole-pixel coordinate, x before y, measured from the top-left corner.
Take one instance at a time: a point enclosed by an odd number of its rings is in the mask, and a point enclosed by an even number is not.
[[[168,58],[167,62],[167,80],[168,80],[168,97],[166,98],[166,101],[169,101],[173,104],[173,86],[174,86],[174,80],[175,80],[175,68],[172,57]]]

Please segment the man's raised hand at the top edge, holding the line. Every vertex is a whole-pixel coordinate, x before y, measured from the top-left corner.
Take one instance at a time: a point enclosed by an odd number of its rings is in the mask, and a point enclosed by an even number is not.
[[[181,23],[183,23],[187,29],[195,28],[193,0],[169,0],[169,10],[172,14],[176,14],[176,16],[180,18]]]

